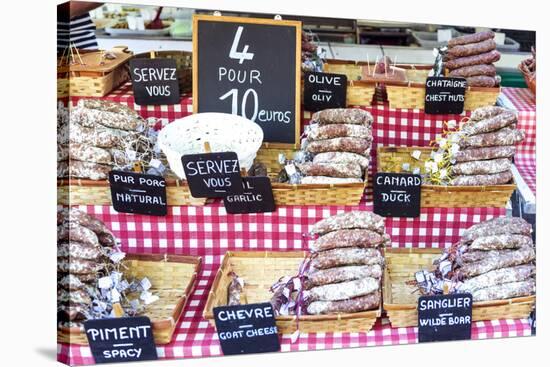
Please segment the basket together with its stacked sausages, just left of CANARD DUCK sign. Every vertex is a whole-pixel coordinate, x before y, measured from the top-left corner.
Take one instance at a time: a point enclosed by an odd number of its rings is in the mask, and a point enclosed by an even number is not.
[[[313,114],[302,149],[262,153],[278,205],[355,205],[368,180],[372,116],[357,108]],[[289,154],[290,153],[290,154]]]

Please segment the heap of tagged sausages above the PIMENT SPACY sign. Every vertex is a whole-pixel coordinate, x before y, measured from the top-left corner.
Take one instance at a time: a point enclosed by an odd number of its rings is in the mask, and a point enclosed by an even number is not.
[[[61,327],[82,328],[88,319],[113,315],[115,304],[121,314],[133,315],[157,296],[147,290],[148,281],[124,279],[115,236],[100,220],[76,208],[57,213],[57,310]],[[130,301],[132,292],[137,296]],[[140,301],[141,300],[141,301]]]

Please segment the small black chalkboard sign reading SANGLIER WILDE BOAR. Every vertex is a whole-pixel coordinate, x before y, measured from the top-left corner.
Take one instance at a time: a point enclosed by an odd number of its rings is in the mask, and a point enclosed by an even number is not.
[[[472,302],[469,293],[420,297],[418,341],[471,339]]]

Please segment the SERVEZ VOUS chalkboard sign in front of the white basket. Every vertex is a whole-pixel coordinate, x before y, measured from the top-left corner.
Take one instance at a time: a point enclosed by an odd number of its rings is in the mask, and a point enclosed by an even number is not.
[[[243,193],[237,153],[189,154],[182,156],[181,162],[193,197],[223,198]]]

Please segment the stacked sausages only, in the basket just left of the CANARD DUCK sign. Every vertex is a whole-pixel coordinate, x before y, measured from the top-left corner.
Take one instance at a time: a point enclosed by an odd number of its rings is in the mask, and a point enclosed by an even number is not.
[[[358,108],[316,112],[304,142],[310,159],[297,164],[301,183],[363,182],[372,143],[372,115]]]

